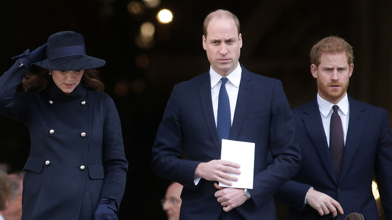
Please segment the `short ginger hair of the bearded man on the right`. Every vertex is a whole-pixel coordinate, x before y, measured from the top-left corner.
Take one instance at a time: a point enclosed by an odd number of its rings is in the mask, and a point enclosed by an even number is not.
[[[336,54],[342,52],[346,53],[347,63],[349,65],[354,62],[354,53],[351,45],[339,37],[326,37],[312,47],[310,52],[311,64],[318,67],[321,62],[322,53]]]

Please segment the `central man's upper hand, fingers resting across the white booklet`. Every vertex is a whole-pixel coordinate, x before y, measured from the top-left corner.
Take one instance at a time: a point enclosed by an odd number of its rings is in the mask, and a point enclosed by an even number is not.
[[[212,160],[206,163],[200,163],[194,171],[194,177],[202,177],[210,181],[218,181],[228,186],[233,185],[231,181],[238,181],[238,178],[229,173],[240,174],[238,169],[240,165],[225,160]]]

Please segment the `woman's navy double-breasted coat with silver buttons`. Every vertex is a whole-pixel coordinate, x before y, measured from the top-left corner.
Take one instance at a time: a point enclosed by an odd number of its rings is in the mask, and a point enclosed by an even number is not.
[[[0,113],[30,131],[22,219],[93,219],[101,197],[120,205],[128,162],[112,98],[82,82],[71,96],[54,82],[16,93],[27,71],[19,66],[0,77]]]

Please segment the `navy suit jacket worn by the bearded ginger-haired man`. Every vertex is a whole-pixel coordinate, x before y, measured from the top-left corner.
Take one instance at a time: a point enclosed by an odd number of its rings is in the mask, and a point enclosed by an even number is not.
[[[339,182],[320,116],[317,98],[293,109],[302,151],[300,171],[276,194],[288,202],[289,219],[328,219],[306,205],[313,186],[337,200],[345,214],[359,212],[366,220],[379,219],[372,194],[375,174],[386,219],[392,219],[392,132],[385,109],[348,97],[350,118]]]

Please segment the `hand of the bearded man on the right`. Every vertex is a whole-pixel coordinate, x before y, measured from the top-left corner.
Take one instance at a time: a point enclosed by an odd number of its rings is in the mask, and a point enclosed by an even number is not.
[[[339,202],[331,198],[329,195],[314,189],[310,190],[306,196],[306,202],[316,209],[321,216],[332,212],[332,216],[336,217],[339,211],[343,214],[343,208]]]

